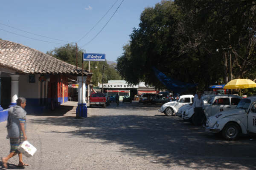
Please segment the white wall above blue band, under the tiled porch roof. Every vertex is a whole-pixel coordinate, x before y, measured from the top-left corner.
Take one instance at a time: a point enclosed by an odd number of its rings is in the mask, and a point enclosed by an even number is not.
[[[35,75],[35,83],[29,83],[29,75],[19,77],[19,96],[24,98],[40,98],[40,75]]]

